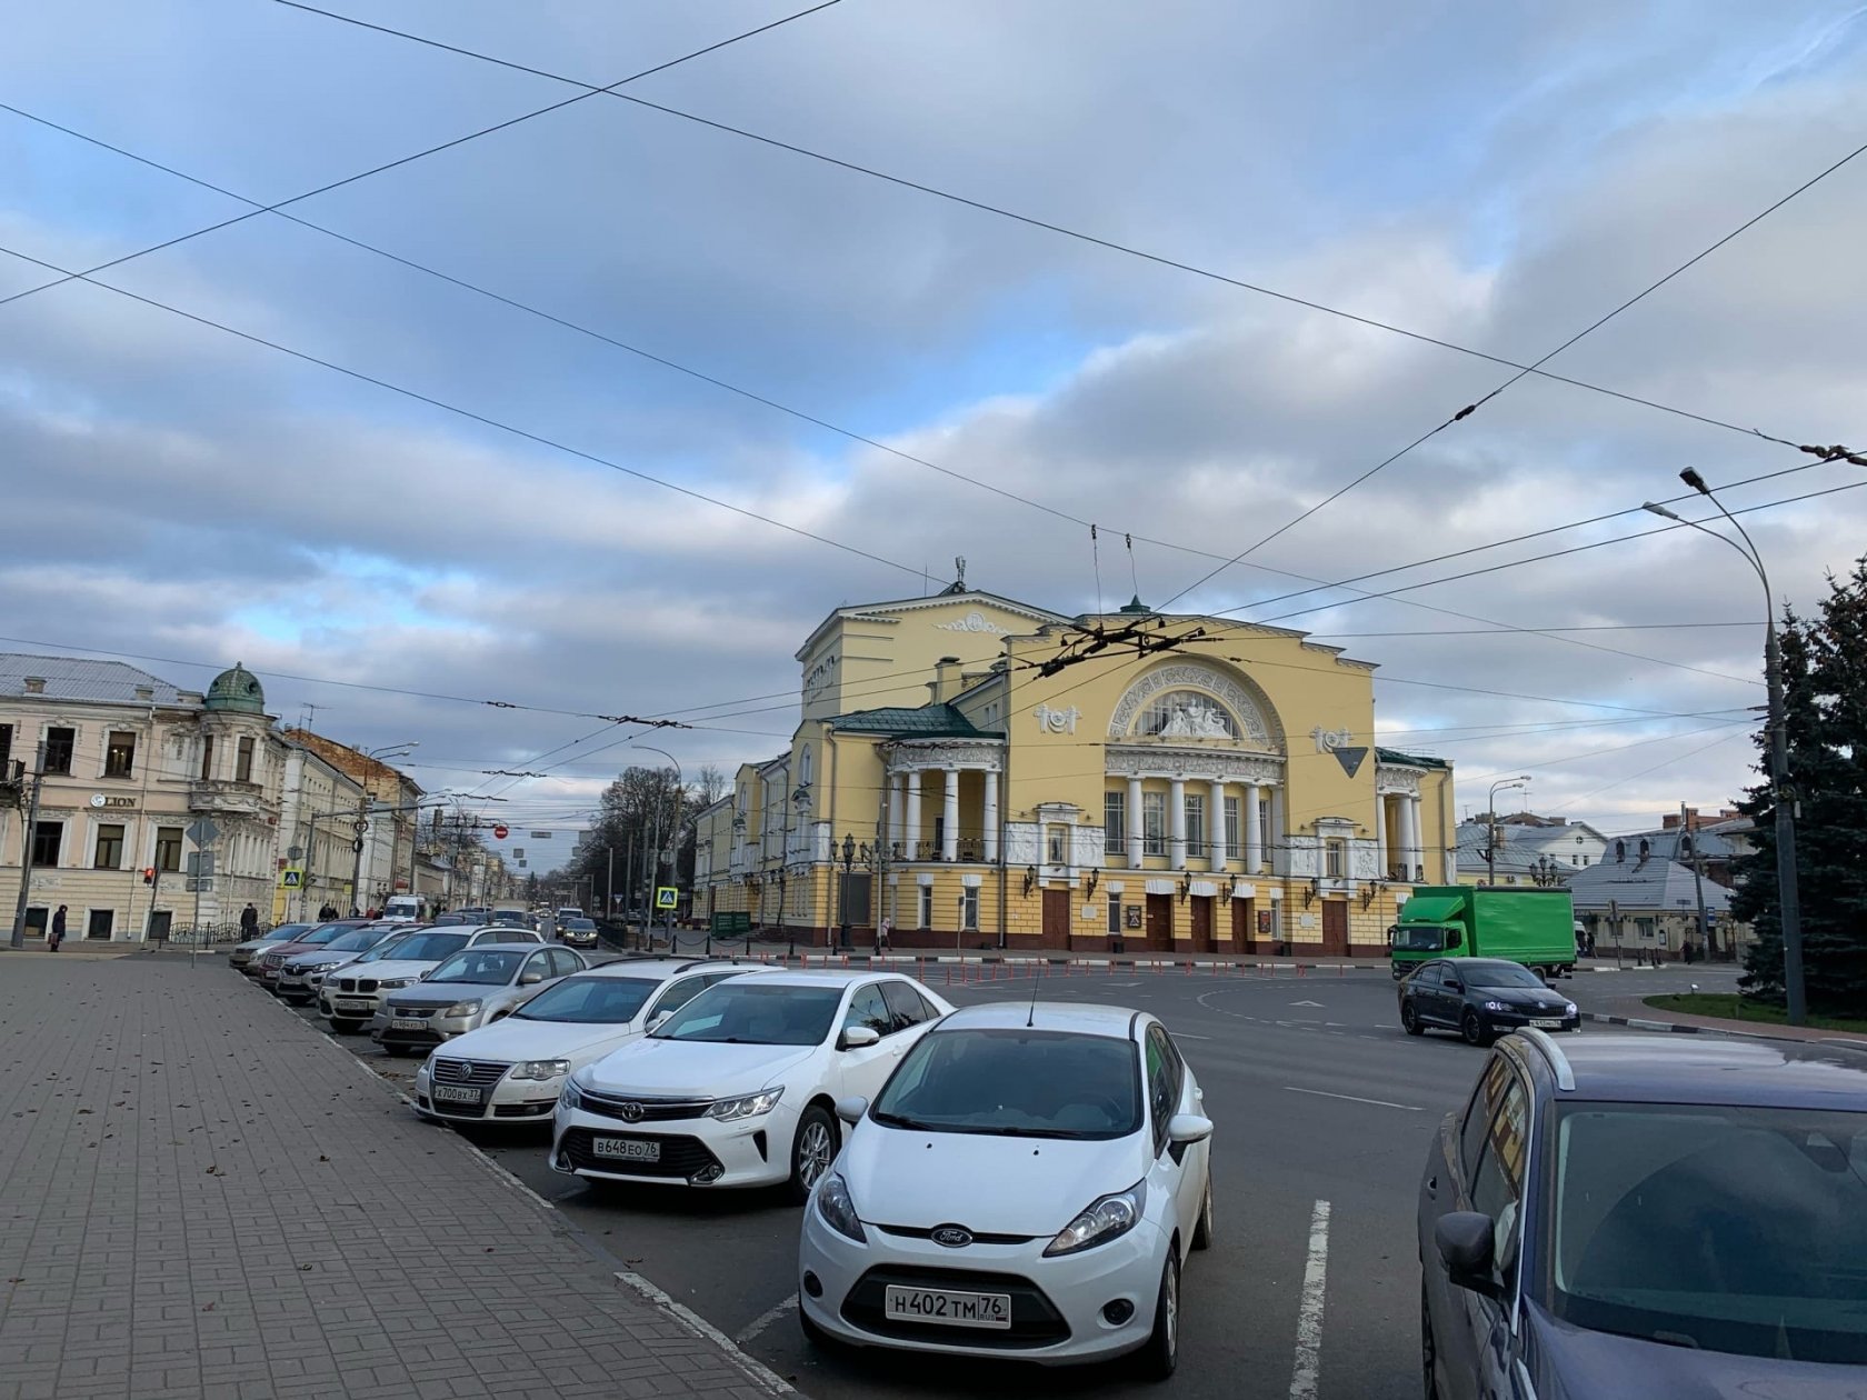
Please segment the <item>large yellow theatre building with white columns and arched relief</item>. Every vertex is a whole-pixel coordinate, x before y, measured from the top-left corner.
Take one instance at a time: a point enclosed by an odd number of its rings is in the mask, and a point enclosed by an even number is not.
[[[1098,638],[1102,644],[1098,646]],[[1451,765],[1378,749],[1374,666],[1139,601],[954,584],[836,609],[788,752],[696,816],[693,909],[799,943],[1385,954],[1456,879]]]

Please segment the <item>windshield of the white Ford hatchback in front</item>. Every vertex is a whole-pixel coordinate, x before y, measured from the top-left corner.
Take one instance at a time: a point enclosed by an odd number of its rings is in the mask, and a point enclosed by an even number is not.
[[[1141,1068],[1126,1038],[935,1030],[907,1051],[870,1116],[935,1133],[1128,1137],[1141,1131]]]

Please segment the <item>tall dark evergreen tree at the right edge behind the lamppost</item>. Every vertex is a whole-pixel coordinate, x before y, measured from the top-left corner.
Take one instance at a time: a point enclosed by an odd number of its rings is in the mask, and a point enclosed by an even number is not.
[[[1867,556],[1828,579],[1820,620],[1785,609],[1783,709],[1789,801],[1796,818],[1802,973],[1811,1012],[1867,1014]],[[1776,803],[1768,732],[1757,739],[1764,780],[1738,803],[1757,823],[1755,851],[1733,862],[1733,917],[1757,931],[1740,982],[1746,997],[1783,1004],[1783,924],[1776,879]]]

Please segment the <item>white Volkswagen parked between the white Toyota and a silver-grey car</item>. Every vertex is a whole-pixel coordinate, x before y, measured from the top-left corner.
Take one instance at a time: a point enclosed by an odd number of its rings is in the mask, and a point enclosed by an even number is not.
[[[693,997],[764,963],[642,958],[577,973],[497,1025],[469,1030],[414,1071],[414,1105],[441,1122],[541,1124],[564,1081],[640,1040]]]

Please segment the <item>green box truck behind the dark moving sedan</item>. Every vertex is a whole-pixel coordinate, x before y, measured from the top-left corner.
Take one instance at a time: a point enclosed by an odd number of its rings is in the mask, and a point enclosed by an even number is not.
[[[1397,982],[1428,958],[1509,958],[1565,976],[1576,971],[1576,905],[1565,889],[1421,885],[1387,939]]]

